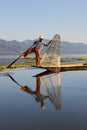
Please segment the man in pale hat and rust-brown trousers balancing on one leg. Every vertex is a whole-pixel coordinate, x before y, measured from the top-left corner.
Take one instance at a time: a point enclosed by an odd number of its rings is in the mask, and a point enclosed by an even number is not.
[[[46,42],[44,41],[44,37],[40,36],[39,40],[35,41],[33,43],[33,45],[28,50],[21,53],[20,56],[26,57],[28,54],[35,53],[36,54],[36,65],[39,66],[40,65],[40,52],[41,52],[43,46],[48,46],[50,44],[50,42],[48,44],[46,44]]]

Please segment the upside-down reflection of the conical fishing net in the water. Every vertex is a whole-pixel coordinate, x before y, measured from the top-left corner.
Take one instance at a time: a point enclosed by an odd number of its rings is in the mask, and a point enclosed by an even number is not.
[[[47,91],[56,109],[62,108],[60,73],[41,77],[41,83]]]

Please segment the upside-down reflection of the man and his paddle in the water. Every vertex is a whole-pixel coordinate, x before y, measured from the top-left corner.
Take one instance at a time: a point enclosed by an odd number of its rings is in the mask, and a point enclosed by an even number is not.
[[[50,98],[48,95],[44,96],[42,94],[42,92],[40,91],[40,77],[36,77],[36,90],[32,91],[31,88],[29,88],[28,86],[22,86],[20,85],[11,75],[8,74],[8,76],[12,79],[12,81],[14,81],[18,86],[21,87],[21,90],[24,92],[27,92],[31,95],[33,95],[33,97],[35,98],[35,100],[39,103],[41,103],[41,108],[45,109],[45,100],[47,98]]]

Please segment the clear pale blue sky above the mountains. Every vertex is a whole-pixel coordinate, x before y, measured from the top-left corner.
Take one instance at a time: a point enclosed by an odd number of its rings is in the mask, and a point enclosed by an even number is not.
[[[0,39],[87,43],[87,0],[0,0]]]

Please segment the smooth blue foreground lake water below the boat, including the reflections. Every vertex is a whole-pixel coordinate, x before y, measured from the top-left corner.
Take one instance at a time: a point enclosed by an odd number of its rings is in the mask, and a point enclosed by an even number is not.
[[[0,130],[87,130],[87,71],[41,72],[0,72]]]

